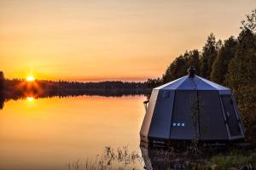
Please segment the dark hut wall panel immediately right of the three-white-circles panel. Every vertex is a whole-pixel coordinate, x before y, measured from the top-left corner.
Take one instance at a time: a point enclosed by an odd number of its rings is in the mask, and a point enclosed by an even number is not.
[[[201,140],[227,140],[224,115],[218,91],[198,91]]]

